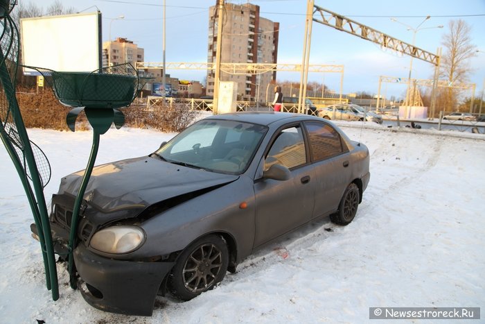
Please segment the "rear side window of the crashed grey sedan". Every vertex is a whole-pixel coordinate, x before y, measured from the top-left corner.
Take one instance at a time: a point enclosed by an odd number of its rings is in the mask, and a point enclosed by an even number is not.
[[[332,126],[318,121],[305,123],[310,137],[310,150],[314,161],[324,160],[348,150],[340,134]]]

